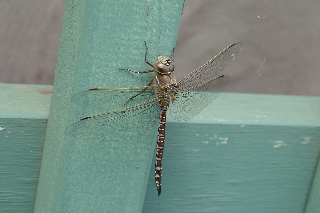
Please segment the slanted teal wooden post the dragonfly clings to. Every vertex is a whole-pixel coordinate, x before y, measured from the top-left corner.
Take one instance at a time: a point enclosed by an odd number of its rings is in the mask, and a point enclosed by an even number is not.
[[[118,69],[150,68],[144,41],[150,61],[159,51],[170,55],[182,7],[183,0],[67,1],[35,212],[141,211],[156,128],[121,142],[64,138],[63,132],[95,113],[70,103],[76,92],[148,84],[152,74]]]

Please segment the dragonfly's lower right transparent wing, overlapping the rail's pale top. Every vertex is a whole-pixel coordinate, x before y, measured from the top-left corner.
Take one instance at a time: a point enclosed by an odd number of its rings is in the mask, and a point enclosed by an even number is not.
[[[226,89],[230,80],[229,75],[220,75],[193,89],[178,91],[169,109],[170,116],[178,121],[191,119],[216,99]]]

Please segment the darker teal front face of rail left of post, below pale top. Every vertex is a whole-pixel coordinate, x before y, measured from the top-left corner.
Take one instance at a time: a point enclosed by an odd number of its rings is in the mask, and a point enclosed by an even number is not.
[[[0,118],[0,212],[33,212],[46,124]]]

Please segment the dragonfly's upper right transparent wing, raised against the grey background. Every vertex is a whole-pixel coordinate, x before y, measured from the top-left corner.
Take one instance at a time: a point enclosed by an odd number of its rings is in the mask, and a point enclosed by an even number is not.
[[[206,64],[182,78],[178,83],[177,89],[191,89],[213,79],[236,57],[242,47],[243,42],[231,44]]]

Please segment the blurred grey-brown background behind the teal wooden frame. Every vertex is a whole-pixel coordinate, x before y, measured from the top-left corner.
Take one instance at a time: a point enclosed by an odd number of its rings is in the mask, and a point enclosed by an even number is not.
[[[0,83],[53,84],[65,0],[0,1]],[[228,45],[244,48],[223,74],[227,92],[320,95],[320,1],[186,0],[175,75]],[[260,19],[258,19],[260,16]]]

